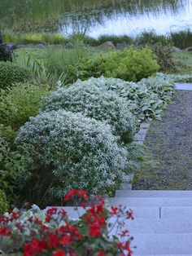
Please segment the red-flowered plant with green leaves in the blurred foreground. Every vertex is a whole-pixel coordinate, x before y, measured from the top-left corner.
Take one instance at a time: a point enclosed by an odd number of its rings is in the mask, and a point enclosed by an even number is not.
[[[123,206],[105,207],[101,196],[88,198],[83,190],[73,189],[63,198],[81,205],[83,214],[74,210],[78,218],[68,218],[60,207],[44,213],[38,207],[27,212],[13,210],[0,215],[0,250],[4,254],[35,256],[131,256],[126,219],[133,219],[131,210]],[[86,207],[87,205],[87,207]],[[89,206],[88,206],[89,205]],[[111,221],[112,220],[112,221]]]

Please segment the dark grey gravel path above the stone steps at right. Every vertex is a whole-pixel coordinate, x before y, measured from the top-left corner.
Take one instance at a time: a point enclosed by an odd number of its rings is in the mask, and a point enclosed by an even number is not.
[[[135,175],[133,189],[192,190],[192,91],[177,90],[173,102],[146,135],[156,166]]]

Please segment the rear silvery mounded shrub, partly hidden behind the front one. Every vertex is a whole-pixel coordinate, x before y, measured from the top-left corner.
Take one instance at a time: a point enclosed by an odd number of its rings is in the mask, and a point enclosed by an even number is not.
[[[41,109],[50,111],[59,108],[106,121],[115,128],[115,135],[120,136],[125,143],[133,139],[136,127],[129,104],[116,92],[98,86],[97,79],[85,82],[78,80],[68,88],[59,88],[50,95]]]

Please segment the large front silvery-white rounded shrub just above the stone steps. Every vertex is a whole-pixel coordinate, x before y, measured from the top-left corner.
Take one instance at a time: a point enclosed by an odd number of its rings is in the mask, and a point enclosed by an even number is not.
[[[50,188],[58,198],[72,188],[105,194],[127,166],[128,152],[111,126],[63,109],[31,117],[20,128],[16,143],[35,148],[42,170],[52,171]]]

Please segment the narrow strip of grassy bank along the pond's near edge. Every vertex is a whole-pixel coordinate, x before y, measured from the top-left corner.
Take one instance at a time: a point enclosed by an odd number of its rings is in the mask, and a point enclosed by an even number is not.
[[[60,33],[15,33],[11,29],[2,31],[3,42],[12,42],[15,44],[28,44],[44,42],[47,44],[68,44],[78,40],[89,46],[99,46],[103,42],[111,41],[115,46],[136,45],[143,46],[146,44],[154,45],[156,43],[162,46],[177,46],[181,49],[192,46],[192,32],[188,29],[178,33],[170,33],[167,35],[157,35],[155,32],[143,32],[132,38],[127,35],[120,37],[114,35],[103,35],[98,39],[90,38],[85,33],[72,33],[70,36],[64,37]]]

